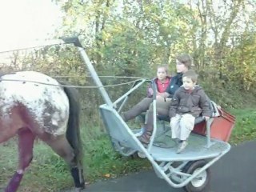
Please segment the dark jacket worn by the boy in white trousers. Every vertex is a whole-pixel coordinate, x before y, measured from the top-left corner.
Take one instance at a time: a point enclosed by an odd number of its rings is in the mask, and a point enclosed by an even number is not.
[[[200,86],[195,86],[192,92],[180,87],[170,103],[169,117],[176,114],[192,114],[195,118],[200,114],[210,117],[210,102]]]

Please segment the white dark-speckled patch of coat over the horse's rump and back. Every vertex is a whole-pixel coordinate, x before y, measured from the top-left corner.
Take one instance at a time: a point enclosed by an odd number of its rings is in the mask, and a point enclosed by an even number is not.
[[[24,71],[2,76],[0,84],[1,118],[10,118],[11,109],[21,105],[37,120],[40,129],[54,135],[66,133],[69,100],[55,79],[38,72]]]

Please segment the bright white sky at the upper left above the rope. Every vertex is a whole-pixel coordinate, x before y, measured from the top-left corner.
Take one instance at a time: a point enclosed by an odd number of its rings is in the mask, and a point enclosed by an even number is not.
[[[51,38],[61,16],[51,0],[0,0],[0,51]]]

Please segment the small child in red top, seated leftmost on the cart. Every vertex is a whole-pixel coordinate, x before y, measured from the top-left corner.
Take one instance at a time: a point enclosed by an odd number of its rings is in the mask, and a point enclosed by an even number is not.
[[[154,86],[157,88],[157,97],[161,97],[161,94],[164,93],[169,86],[170,83],[170,77],[168,76],[168,71],[166,66],[158,66],[157,70],[157,78],[154,78],[152,80],[152,83],[154,83]],[[150,84],[147,90],[147,98],[153,97],[153,85]],[[144,124],[145,124],[145,118],[142,117],[142,115],[138,116],[139,122],[141,124],[141,131],[136,134],[136,136],[141,136],[143,134],[144,130]]]

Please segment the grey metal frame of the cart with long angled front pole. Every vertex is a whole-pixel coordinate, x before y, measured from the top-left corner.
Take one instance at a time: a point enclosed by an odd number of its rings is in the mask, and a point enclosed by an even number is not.
[[[77,42],[78,40],[76,40]],[[79,44],[78,44],[79,45]],[[81,45],[81,44],[80,44]],[[224,144],[225,150],[219,151],[218,153],[206,155],[206,157],[202,157],[202,159],[208,158],[209,162],[206,163],[205,166],[203,166],[198,172],[194,174],[186,174],[182,172],[182,168],[186,166],[186,164],[189,161],[194,161],[196,159],[200,159],[200,155],[198,158],[194,157],[186,157],[186,158],[173,158],[170,157],[169,159],[166,159],[166,161],[158,161],[158,157],[155,156],[153,152],[153,143],[154,143],[154,137],[157,132],[157,117],[156,117],[156,101],[154,99],[153,105],[154,105],[154,131],[152,135],[152,139],[150,139],[150,144],[145,148],[141,142],[138,141],[138,138],[135,137],[134,132],[130,130],[130,128],[126,125],[126,122],[124,122],[121,118],[121,116],[118,114],[120,110],[122,109],[122,106],[120,106],[119,110],[115,110],[114,106],[117,106],[117,104],[121,101],[126,102],[126,99],[128,98],[128,95],[131,94],[134,90],[137,90],[139,86],[142,85],[142,83],[146,82],[146,80],[142,80],[142,82],[139,82],[138,85],[134,86],[131,90],[129,90],[126,94],[122,95],[122,97],[118,98],[115,102],[111,102],[109,95],[106,93],[105,88],[102,86],[102,82],[98,78],[97,72],[94,70],[94,67],[92,66],[90,59],[88,58],[86,51],[82,48],[82,46],[77,46],[78,51],[81,55],[82,60],[85,62],[87,69],[90,71],[90,74],[92,78],[94,79],[95,84],[99,87],[99,91],[102,94],[102,98],[106,102],[105,105],[100,106],[100,110],[102,113],[103,121],[105,122],[106,129],[109,130],[111,141],[114,142],[115,145],[118,147],[116,150],[120,152],[123,155],[130,155],[134,151],[138,150],[141,151],[146,155],[146,158],[151,162],[152,166],[154,167],[154,170],[156,174],[160,177],[166,180],[170,184],[170,186],[173,187],[182,187],[186,186],[189,182],[191,182],[194,178],[198,177],[199,174],[201,174],[203,171],[208,169],[214,162],[218,161],[219,158],[222,157],[222,155],[226,154],[230,150],[230,145],[228,143],[222,142]],[[155,98],[155,95],[154,95]],[[123,102],[123,103],[124,103]],[[108,122],[107,122],[108,121]],[[118,125],[118,127],[112,126],[112,122],[115,122],[115,124]],[[212,146],[212,143],[217,143],[219,141],[213,140],[211,143],[210,138],[210,124],[213,121],[211,118],[210,121],[207,121],[207,129],[206,129],[206,148],[209,148]],[[108,124],[108,125],[106,125]],[[127,142],[128,144],[131,144],[130,146],[122,146],[122,138],[112,138],[114,136],[117,129],[123,130],[124,133],[120,132],[123,137],[127,137],[124,142]],[[112,133],[112,135],[111,135]],[[114,134],[113,134],[114,133]],[[116,135],[115,135],[116,136]],[[117,141],[115,141],[117,139]],[[119,140],[119,141],[118,141]],[[128,149],[126,152],[125,149]],[[174,162],[182,162],[180,166],[174,167],[172,166]],[[177,183],[178,182],[178,183]]]

